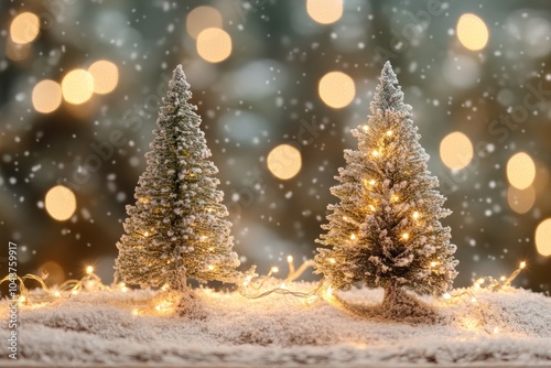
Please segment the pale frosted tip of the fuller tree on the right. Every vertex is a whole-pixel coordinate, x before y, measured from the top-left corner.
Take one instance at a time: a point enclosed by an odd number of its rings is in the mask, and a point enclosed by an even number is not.
[[[379,76],[379,84],[375,91],[374,101],[370,105],[372,115],[377,111],[385,112],[387,110],[404,111],[409,110],[403,104],[403,93],[398,85],[398,78],[390,62],[386,62]]]

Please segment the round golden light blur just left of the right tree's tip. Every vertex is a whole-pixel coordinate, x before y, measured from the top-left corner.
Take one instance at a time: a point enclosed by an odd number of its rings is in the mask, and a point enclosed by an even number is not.
[[[343,72],[329,72],[320,79],[317,93],[325,105],[341,109],[353,101],[356,96],[356,86],[354,80]]]

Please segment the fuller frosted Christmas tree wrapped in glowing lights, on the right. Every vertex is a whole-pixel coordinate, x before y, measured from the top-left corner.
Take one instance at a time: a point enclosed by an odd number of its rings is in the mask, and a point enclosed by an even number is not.
[[[358,149],[345,151],[346,167],[331,188],[341,202],[328,206],[326,232],[316,240],[329,247],[318,248],[316,272],[335,289],[383,288],[383,305],[403,289],[443,293],[457,274],[456,247],[440,223],[451,212],[442,207],[445,198],[389,62],[370,111],[368,123],[353,130]]]

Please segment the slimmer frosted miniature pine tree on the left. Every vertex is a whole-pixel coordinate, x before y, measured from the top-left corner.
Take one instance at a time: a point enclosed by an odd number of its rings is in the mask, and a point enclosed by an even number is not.
[[[159,111],[152,151],[136,187],[136,204],[117,248],[116,275],[142,288],[186,289],[186,278],[231,282],[238,277],[231,224],[216,190],[218,172],[182,66],[174,71]]]

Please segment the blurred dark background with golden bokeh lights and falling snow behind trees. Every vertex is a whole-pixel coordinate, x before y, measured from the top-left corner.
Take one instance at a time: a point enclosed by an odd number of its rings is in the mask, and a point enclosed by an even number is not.
[[[260,273],[311,259],[390,59],[447,196],[460,275],[551,284],[551,13],[537,1],[0,2],[0,277],[112,281],[125,206],[183,64]],[[306,279],[315,275],[306,274]]]

